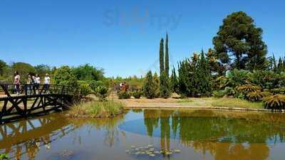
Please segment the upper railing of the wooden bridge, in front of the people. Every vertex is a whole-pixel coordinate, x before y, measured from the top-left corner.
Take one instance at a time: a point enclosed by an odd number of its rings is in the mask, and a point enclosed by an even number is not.
[[[19,96],[19,95],[42,95],[42,94],[56,94],[56,95],[76,95],[77,90],[65,85],[43,85],[43,84],[24,84],[16,86],[14,84],[0,83],[0,97],[1,95]]]

